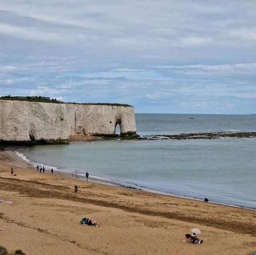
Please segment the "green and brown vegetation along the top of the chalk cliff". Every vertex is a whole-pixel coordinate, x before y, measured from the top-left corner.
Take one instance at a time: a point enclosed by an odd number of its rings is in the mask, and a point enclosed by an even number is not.
[[[29,101],[29,102],[41,102],[41,103],[54,103],[54,104],[64,104],[65,102],[59,101],[57,99],[50,99],[50,97],[11,97],[11,95],[0,97],[0,100],[10,100],[10,101]],[[116,104],[116,103],[67,103],[74,105],[111,105],[111,106],[124,106],[131,107],[127,104]]]

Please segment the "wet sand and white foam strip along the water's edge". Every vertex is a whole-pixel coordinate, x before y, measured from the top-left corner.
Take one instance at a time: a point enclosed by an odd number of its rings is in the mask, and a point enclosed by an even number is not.
[[[7,153],[12,154],[12,156],[18,160],[20,165],[19,164],[14,164],[14,166],[21,167],[21,168],[27,168],[29,170],[32,170],[32,171],[36,172],[36,170],[35,170],[36,163],[31,162],[28,159],[26,160],[22,156],[19,156],[17,154],[19,152],[16,152],[16,150],[4,150],[4,151],[7,152]],[[26,156],[24,155],[24,157],[26,157]],[[49,169],[47,169],[47,167]],[[60,176],[60,177],[64,177],[64,178],[70,178],[70,179],[73,179],[73,180],[79,180],[79,181],[82,181],[82,182],[86,182],[85,174],[78,173],[77,177],[76,177],[76,174],[73,173],[73,172],[60,170],[60,169],[57,169],[56,167],[54,167],[54,168],[55,168],[54,169],[54,174],[53,174],[54,176]],[[48,171],[48,172],[50,171],[50,166],[46,166],[46,171]],[[46,173],[50,174],[48,172],[46,172]],[[167,197],[182,198],[182,199],[188,199],[188,200],[193,200],[193,201],[198,201],[198,202],[203,201],[200,198],[193,198],[193,197],[189,197],[189,196],[183,196],[183,195],[180,195],[180,194],[172,194],[172,193],[164,192],[164,191],[161,191],[161,190],[154,190],[152,188],[138,186],[136,184],[118,183],[118,182],[115,182],[114,180],[108,180],[108,179],[105,179],[105,178],[101,178],[99,176],[90,176],[89,179],[90,179],[91,182],[94,182],[95,184],[106,185],[106,186],[110,186],[110,187],[126,188],[126,189],[130,189],[130,190],[148,192],[150,194],[160,194],[160,195],[167,196]],[[245,210],[256,211],[256,208],[239,206],[239,205],[234,205],[234,204],[225,204],[225,203],[222,203],[222,202],[215,202],[215,201],[210,201],[210,203],[216,204],[216,205],[222,205],[222,206],[229,206],[229,207],[232,207],[232,208],[241,208],[241,209],[245,209]]]

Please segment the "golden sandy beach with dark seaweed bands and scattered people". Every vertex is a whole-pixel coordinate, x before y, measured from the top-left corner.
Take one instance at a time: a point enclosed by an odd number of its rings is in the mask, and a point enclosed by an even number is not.
[[[253,210],[43,174],[10,151],[0,152],[0,199],[12,202],[0,202],[0,245],[9,252],[249,255],[256,250]],[[100,227],[80,225],[82,217]],[[183,242],[194,227],[204,244]]]

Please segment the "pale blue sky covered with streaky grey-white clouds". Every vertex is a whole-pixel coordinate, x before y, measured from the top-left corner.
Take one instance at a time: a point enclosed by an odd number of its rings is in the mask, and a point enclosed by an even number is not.
[[[256,113],[255,0],[0,1],[0,96]]]

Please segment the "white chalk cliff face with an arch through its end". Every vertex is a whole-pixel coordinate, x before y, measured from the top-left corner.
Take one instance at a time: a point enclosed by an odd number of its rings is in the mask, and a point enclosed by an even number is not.
[[[134,107],[0,100],[0,142],[67,142],[70,135],[136,134]]]

